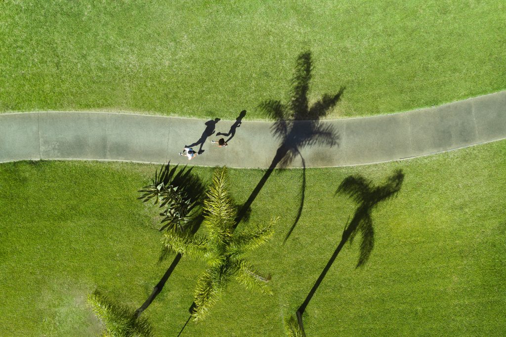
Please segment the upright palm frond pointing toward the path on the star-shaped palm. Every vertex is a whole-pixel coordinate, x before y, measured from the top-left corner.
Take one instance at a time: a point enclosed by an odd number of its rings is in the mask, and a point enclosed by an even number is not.
[[[213,183],[204,200],[204,225],[209,232],[209,240],[217,246],[226,245],[232,237],[235,208],[227,191],[227,168],[217,168]]]

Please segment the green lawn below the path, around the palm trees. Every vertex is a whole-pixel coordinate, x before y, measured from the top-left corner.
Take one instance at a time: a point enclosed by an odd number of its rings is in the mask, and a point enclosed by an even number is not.
[[[351,174],[376,184],[397,168],[397,198],[373,211],[375,247],[355,269],[358,244],[346,245],[304,316],[308,336],[497,335],[506,333],[506,141],[377,165],[274,173],[250,221],[281,216],[271,242],[248,259],[272,274],[273,296],[232,282],[211,315],[182,336],[283,335],[330,258],[355,205],[336,187]],[[0,165],[0,331],[3,335],[90,336],[99,325],[86,296],[96,286],[136,308],[172,259],[157,264],[156,209],[136,190],[156,166],[98,162]],[[195,167],[209,181],[212,168]],[[261,170],[230,170],[243,202]],[[242,227],[242,225],[241,225]],[[239,229],[241,228],[239,227]],[[145,311],[156,336],[177,335],[204,264],[183,258]]]

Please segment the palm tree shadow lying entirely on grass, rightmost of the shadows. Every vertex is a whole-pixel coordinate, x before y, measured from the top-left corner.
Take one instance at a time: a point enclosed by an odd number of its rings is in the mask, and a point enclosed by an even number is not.
[[[304,314],[306,307],[313,298],[316,290],[325,278],[325,275],[334,263],[335,259],[338,257],[338,254],[343,246],[346,242],[350,242],[351,244],[358,232],[361,234],[361,242],[360,256],[356,268],[363,266],[369,259],[372,249],[374,248],[374,227],[372,224],[371,212],[378,203],[396,196],[401,189],[403,180],[404,174],[401,170],[392,175],[388,179],[388,182],[382,186],[373,186],[370,181],[367,181],[361,176],[350,176],[346,178],[341,183],[338,190],[336,190],[335,194],[348,194],[353,200],[355,200],[355,202],[358,203],[358,207],[351,222],[345,226],[341,242],[339,242],[337,248],[335,248],[334,253],[327,262],[327,265],[323,268],[320,276],[309,291],[308,296],[296,312],[297,321],[303,332],[304,323],[302,315]]]

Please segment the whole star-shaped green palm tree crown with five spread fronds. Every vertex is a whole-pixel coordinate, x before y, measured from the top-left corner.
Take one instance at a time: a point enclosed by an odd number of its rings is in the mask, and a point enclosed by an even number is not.
[[[209,309],[220,300],[224,290],[235,278],[248,289],[272,294],[269,277],[260,276],[242,254],[266,242],[273,234],[277,219],[266,225],[248,227],[234,233],[235,207],[227,192],[227,169],[214,172],[213,183],[204,200],[204,225],[207,236],[187,236],[166,232],[164,244],[191,258],[208,262],[209,268],[199,277],[195,288],[194,320],[204,318]]]

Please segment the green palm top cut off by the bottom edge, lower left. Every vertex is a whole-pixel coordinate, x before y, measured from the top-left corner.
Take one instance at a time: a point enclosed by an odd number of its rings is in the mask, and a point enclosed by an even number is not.
[[[114,304],[100,290],[88,295],[88,303],[99,320],[105,325],[104,336],[149,337],[151,324],[145,318],[136,318],[134,310]]]

